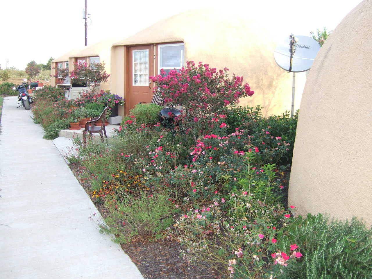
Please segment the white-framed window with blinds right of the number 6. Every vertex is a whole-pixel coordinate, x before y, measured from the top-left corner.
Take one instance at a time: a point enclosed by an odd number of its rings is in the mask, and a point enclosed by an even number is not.
[[[166,75],[170,70],[174,68],[179,70],[183,67],[185,62],[184,46],[181,44],[166,44],[159,45],[158,47],[158,73],[160,74],[160,69],[166,72]]]

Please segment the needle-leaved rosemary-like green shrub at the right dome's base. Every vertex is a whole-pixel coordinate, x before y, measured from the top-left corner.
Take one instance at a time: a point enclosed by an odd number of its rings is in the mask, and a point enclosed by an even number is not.
[[[296,244],[303,260],[288,266],[283,278],[372,278],[372,228],[356,217],[329,221],[323,214],[298,218],[284,232],[281,247]]]

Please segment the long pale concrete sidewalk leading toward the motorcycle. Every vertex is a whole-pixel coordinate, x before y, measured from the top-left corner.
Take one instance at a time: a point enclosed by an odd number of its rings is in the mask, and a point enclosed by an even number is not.
[[[143,278],[52,141],[4,98],[0,134],[0,278]]]

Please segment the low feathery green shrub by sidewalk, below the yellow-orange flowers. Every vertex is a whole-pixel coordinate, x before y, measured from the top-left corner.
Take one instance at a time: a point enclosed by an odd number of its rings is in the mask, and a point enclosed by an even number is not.
[[[110,197],[108,204],[108,227],[102,231],[115,234],[118,243],[127,243],[135,235],[159,234],[173,224],[172,215],[177,210],[164,191],[125,195],[115,201]]]

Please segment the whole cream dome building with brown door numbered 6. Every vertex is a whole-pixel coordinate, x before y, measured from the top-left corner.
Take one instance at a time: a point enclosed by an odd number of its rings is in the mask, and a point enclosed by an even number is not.
[[[274,60],[275,34],[254,22],[217,10],[194,10],[161,20],[111,49],[112,93],[124,97],[125,114],[139,102],[150,102],[155,76],[161,68],[180,68],[187,60],[211,67],[228,67],[243,76],[255,94],[241,105],[261,105],[265,115],[291,110],[292,74]],[[296,76],[296,106],[299,107],[305,73]],[[124,113],[124,112],[122,112]]]

